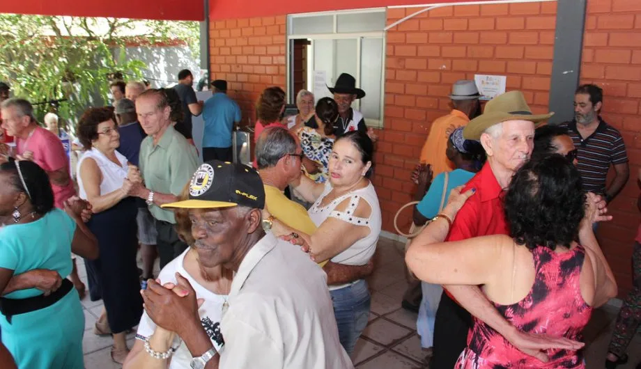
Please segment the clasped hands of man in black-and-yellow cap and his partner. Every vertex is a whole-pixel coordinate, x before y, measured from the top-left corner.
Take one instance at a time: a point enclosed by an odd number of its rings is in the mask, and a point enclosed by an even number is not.
[[[158,327],[185,337],[190,329],[202,328],[198,308],[205,300],[196,299],[194,288],[180,273],[176,273],[176,282],[161,285],[160,279],[149,279],[140,294],[147,315]]]

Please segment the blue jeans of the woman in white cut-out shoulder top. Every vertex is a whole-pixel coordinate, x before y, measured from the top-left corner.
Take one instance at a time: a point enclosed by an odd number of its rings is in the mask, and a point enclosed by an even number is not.
[[[339,328],[339,340],[345,351],[351,355],[369,319],[371,297],[367,282],[361,279],[353,285],[330,291],[330,295]]]

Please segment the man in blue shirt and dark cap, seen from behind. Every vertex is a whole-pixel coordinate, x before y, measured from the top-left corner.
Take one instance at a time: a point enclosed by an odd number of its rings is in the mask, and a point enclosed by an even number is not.
[[[240,123],[240,108],[227,96],[227,81],[217,79],[211,85],[213,95],[203,106],[203,160],[231,162],[231,132]]]

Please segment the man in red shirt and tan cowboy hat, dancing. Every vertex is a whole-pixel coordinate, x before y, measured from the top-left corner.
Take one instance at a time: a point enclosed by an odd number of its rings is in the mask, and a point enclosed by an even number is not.
[[[481,141],[488,161],[465,185],[463,191],[473,188],[476,194],[456,215],[448,241],[484,235],[509,235],[501,200],[502,191],[509,186],[518,168],[530,159],[534,147],[534,124],[552,115],[533,115],[523,93],[511,91],[488,102],[484,113],[468,123],[463,130],[465,139]],[[447,290],[441,297],[436,313],[434,355],[430,363],[432,369],[454,368],[456,359],[468,344],[472,315],[496,329],[521,351],[539,359],[546,359],[546,354],[541,350],[566,348],[562,347],[566,343],[559,343],[555,339],[516,331],[477,286],[447,285],[445,288]]]

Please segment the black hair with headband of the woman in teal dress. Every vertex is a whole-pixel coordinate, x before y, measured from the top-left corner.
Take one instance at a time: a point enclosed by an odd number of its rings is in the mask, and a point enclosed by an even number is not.
[[[20,174],[18,173],[20,166]],[[54,208],[54,191],[49,182],[49,176],[38,164],[29,160],[10,160],[0,165],[0,173],[10,175],[10,184],[16,191],[24,193],[33,205],[33,211],[45,215]],[[26,188],[25,188],[26,186]]]

